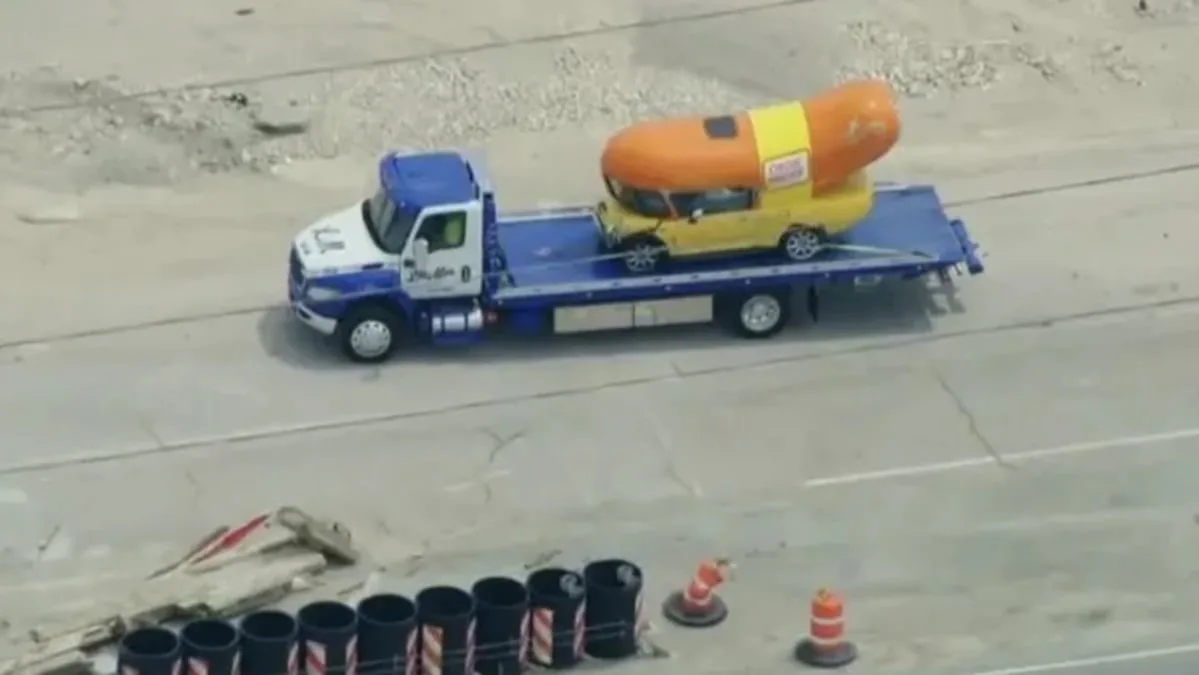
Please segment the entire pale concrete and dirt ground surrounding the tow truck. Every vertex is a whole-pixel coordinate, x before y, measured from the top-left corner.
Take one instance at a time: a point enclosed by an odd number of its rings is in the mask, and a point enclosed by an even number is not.
[[[1193,641],[1197,22],[1194,0],[0,4],[0,607],[35,608],[0,631],[297,502],[421,555],[386,581],[405,591],[556,550],[637,560],[661,598],[740,559],[730,622],[659,626],[675,658],[631,670],[790,669],[821,584],[864,671]],[[856,76],[903,100],[879,174],[935,181],[983,245],[956,296],[845,293],[766,345],[372,369],[279,307],[291,236],[381,152],[480,147],[507,206],[571,203],[631,120]]]

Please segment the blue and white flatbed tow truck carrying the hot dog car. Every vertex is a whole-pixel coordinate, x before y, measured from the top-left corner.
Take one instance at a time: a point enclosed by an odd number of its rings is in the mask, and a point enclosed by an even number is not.
[[[480,157],[388,155],[379,183],[306,228],[290,253],[293,312],[357,362],[385,361],[409,340],[470,344],[495,332],[715,320],[765,338],[783,330],[796,297],[815,319],[827,284],[952,283],[953,272],[983,271],[965,225],[924,185],[879,183],[869,216],[812,260],[742,254],[634,275],[607,252],[602,206],[501,215]],[[463,223],[448,242],[447,217]]]

